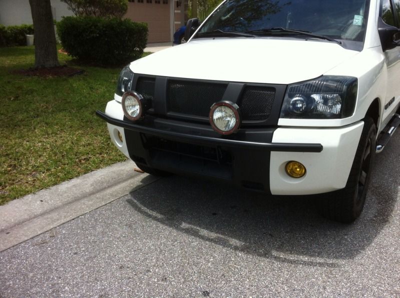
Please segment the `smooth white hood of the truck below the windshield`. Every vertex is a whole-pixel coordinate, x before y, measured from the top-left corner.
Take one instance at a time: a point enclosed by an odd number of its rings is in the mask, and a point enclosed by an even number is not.
[[[199,39],[136,60],[131,69],[170,77],[289,84],[318,77],[357,53],[319,40]]]

